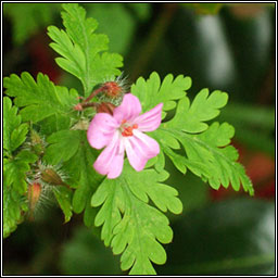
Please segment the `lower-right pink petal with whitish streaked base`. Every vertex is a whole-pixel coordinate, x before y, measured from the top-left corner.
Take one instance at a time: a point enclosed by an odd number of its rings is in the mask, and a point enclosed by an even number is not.
[[[159,143],[139,130],[134,130],[132,137],[125,137],[124,144],[130,165],[138,172],[144,168],[148,160],[160,153]]]

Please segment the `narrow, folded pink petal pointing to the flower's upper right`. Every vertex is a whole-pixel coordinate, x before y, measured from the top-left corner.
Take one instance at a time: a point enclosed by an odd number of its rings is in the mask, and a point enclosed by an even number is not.
[[[134,123],[138,125],[139,130],[153,131],[161,125],[162,106],[163,103],[160,103],[152,110],[134,119]]]

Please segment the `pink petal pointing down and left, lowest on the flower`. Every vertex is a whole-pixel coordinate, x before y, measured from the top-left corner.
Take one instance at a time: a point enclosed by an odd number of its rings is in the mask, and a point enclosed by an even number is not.
[[[93,167],[98,173],[108,175],[108,178],[116,178],[123,170],[124,154],[123,141],[119,139],[118,132],[115,132],[112,141],[93,163]]]

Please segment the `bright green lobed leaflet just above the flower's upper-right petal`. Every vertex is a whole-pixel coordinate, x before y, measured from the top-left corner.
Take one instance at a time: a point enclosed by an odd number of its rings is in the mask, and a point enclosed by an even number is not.
[[[137,96],[141,102],[142,111],[153,109],[156,104],[163,102],[163,110],[168,111],[176,106],[174,100],[178,100],[186,96],[185,90],[191,87],[191,78],[177,76],[175,79],[168,74],[161,83],[157,73],[152,73],[148,80],[142,77],[138,78],[136,84],[131,86],[131,93]],[[163,117],[165,113],[163,114]]]

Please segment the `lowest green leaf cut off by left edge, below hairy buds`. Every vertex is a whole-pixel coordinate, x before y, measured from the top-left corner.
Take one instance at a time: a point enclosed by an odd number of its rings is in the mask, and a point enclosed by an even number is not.
[[[10,236],[23,220],[23,211],[27,211],[26,201],[11,187],[3,185],[3,238]]]

